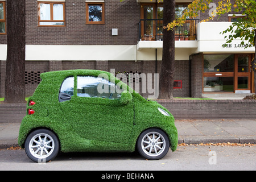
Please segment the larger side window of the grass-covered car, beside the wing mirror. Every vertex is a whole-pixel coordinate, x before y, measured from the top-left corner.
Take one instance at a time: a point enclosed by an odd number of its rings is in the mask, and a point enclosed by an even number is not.
[[[122,90],[101,77],[77,76],[77,96],[119,99]]]

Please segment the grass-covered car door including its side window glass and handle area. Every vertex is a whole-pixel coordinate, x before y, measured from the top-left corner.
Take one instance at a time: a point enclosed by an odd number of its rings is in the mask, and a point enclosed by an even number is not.
[[[104,78],[77,76],[73,81],[67,79],[61,86],[59,101],[65,121],[75,133],[97,144],[128,143],[133,127],[133,103],[119,102],[121,90]]]

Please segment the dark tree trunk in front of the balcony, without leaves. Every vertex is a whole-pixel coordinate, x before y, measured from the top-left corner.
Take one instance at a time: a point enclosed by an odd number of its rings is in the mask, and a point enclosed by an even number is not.
[[[166,0],[163,3],[163,24],[175,19],[175,0]],[[159,98],[172,99],[174,87],[174,65],[175,65],[175,35],[174,31],[163,30],[163,59],[159,76]]]

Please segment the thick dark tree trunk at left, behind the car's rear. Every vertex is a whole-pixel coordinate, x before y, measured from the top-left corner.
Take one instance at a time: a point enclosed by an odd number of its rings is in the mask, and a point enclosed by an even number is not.
[[[25,0],[7,2],[7,59],[5,103],[23,103],[25,99]]]

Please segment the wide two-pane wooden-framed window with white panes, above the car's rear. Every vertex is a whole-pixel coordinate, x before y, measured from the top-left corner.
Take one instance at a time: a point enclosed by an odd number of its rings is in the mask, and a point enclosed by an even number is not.
[[[65,26],[65,3],[64,2],[39,2],[38,3],[38,26]]]

